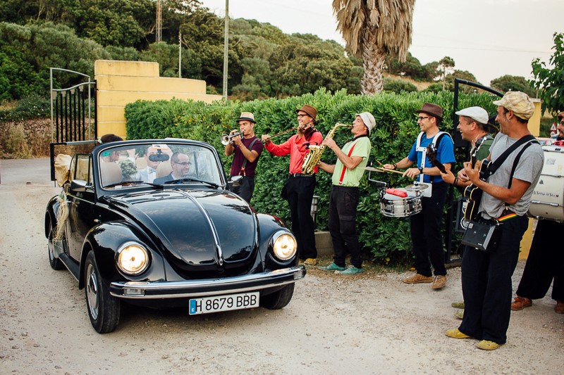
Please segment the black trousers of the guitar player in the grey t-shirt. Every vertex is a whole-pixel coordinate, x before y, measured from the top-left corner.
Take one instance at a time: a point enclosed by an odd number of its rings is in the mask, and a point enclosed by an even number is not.
[[[462,255],[464,319],[458,328],[478,340],[504,344],[511,314],[511,277],[529,219],[518,216],[500,225],[496,249],[486,253],[466,246]]]

